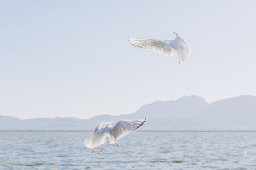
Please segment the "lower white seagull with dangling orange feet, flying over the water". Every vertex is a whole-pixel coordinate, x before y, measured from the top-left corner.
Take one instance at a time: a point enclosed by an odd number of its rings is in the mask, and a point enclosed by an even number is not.
[[[101,145],[101,150],[103,150],[102,144],[109,140],[110,144],[115,143],[117,146],[117,140],[126,136],[131,131],[134,131],[144,125],[145,119],[137,120],[120,120],[115,126],[112,127],[111,122],[101,122],[94,130],[93,135],[84,140],[83,144],[88,148],[93,148],[92,153],[94,153],[95,147]]]

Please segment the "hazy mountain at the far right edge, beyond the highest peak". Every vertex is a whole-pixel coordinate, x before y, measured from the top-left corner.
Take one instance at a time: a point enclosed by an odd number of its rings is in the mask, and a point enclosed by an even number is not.
[[[240,96],[212,102],[193,120],[199,127],[256,127],[256,97]]]

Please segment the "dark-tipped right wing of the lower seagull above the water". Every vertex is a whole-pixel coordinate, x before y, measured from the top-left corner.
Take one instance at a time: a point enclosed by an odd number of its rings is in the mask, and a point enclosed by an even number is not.
[[[140,126],[144,125],[145,119],[137,120],[120,120],[110,130],[110,144],[116,142],[121,137],[126,136],[129,132],[136,130]]]

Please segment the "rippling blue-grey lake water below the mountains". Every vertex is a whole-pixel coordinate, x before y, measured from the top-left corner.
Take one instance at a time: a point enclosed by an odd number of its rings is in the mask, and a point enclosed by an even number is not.
[[[0,170],[256,170],[256,131],[135,131],[95,149],[92,131],[0,131]]]

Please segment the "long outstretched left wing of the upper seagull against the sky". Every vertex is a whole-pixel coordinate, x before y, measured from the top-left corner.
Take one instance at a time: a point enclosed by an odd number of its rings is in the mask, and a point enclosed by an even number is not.
[[[161,40],[129,38],[129,42],[134,47],[149,49],[166,56],[173,56],[174,48],[171,44]]]

